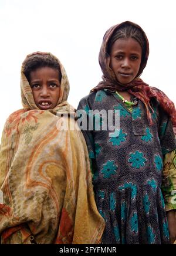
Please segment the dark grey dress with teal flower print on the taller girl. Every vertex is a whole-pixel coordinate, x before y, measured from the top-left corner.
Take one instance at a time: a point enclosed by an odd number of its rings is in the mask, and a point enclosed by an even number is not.
[[[93,130],[83,130],[94,173],[97,208],[106,222],[103,244],[168,244],[168,222],[161,192],[164,155],[175,149],[171,121],[152,99],[153,125],[139,100],[130,111],[109,91],[90,93],[80,100],[78,110],[93,116]],[[113,110],[120,126],[100,129],[108,119],[89,110]],[[89,120],[88,120],[89,119]],[[82,123],[80,122],[82,128]]]

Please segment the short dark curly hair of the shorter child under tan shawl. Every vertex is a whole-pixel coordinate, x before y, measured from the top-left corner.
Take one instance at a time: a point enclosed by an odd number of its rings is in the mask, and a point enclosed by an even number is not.
[[[23,73],[30,82],[31,71],[35,71],[37,68],[42,67],[51,67],[55,68],[59,72],[59,81],[61,81],[62,74],[60,71],[60,65],[57,61],[57,58],[50,54],[49,52],[33,52],[32,54],[27,55],[23,61]]]

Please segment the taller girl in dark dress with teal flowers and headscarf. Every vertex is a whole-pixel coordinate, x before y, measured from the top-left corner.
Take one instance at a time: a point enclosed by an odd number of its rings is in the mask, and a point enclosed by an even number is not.
[[[175,107],[139,78],[148,53],[139,25],[126,21],[108,29],[99,54],[103,81],[78,106],[86,113],[80,127],[87,122],[90,128],[93,120],[93,129],[82,130],[97,208],[106,221],[103,244],[169,244],[176,238]],[[120,125],[104,129],[110,116],[95,110],[111,110],[112,123],[119,115]]]

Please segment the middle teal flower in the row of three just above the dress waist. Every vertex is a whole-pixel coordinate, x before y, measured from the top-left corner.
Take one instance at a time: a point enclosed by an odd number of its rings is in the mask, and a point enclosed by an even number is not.
[[[147,159],[145,159],[143,152],[139,152],[138,150],[136,150],[136,152],[130,153],[130,158],[128,159],[128,162],[131,163],[131,166],[133,168],[139,169],[141,166],[145,166],[145,162],[147,162]]]

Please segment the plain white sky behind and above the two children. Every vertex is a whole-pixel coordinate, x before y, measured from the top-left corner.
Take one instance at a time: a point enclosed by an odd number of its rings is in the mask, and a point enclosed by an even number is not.
[[[49,51],[59,58],[76,108],[101,80],[104,33],[126,20],[139,24],[150,42],[141,78],[176,103],[175,9],[175,0],[0,0],[0,136],[9,114],[22,108],[19,80],[27,54]]]

